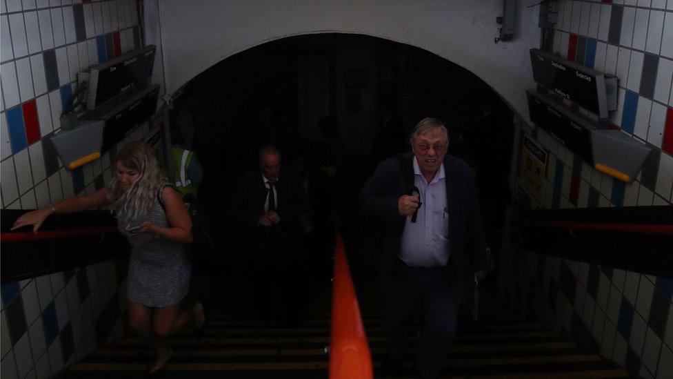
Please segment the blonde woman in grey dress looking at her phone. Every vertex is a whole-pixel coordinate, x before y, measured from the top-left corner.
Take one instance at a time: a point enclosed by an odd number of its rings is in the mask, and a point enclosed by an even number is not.
[[[108,187],[21,215],[12,230],[33,225],[37,231],[52,213],[110,206],[119,231],[132,245],[127,278],[129,325],[157,352],[149,370],[154,374],[172,355],[165,337],[183,327],[197,329],[199,336],[205,327],[201,303],[190,309],[181,307],[192,270],[185,249],[192,242],[192,222],[180,195],[161,178],[157,159],[147,145],[132,142],[123,146],[113,171]]]

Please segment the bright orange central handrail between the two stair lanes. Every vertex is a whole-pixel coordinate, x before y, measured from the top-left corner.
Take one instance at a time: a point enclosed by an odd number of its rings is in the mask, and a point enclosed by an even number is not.
[[[372,354],[339,232],[336,243],[332,282],[330,379],[374,378]]]

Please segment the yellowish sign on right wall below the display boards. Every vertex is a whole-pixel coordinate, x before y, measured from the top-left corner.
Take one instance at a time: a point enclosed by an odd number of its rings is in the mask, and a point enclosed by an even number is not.
[[[524,135],[521,154],[521,185],[536,202],[542,204],[547,153],[528,135]]]

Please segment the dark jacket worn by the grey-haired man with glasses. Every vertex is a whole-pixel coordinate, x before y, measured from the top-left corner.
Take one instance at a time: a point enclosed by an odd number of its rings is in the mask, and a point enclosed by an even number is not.
[[[403,157],[405,164],[413,164],[412,159],[415,158],[412,153]],[[413,173],[413,166],[411,170]],[[472,262],[474,271],[486,269],[486,242],[470,168],[460,159],[446,155],[444,171],[450,244],[447,275],[461,278],[466,258]],[[383,222],[381,281],[390,276],[399,255],[406,218],[399,214],[398,200],[401,195],[410,195],[410,192],[397,157],[379,163],[374,175],[365,183],[360,193],[364,211]]]

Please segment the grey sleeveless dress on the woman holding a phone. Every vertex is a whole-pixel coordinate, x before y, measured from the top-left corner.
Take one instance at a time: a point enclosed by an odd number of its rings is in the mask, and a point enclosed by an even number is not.
[[[128,300],[147,307],[168,307],[182,300],[189,290],[192,262],[185,245],[154,234],[128,235],[126,226],[145,221],[165,228],[169,226],[165,211],[155,202],[143,220],[128,220],[117,214],[117,227],[132,245],[128,264],[126,292]]]

